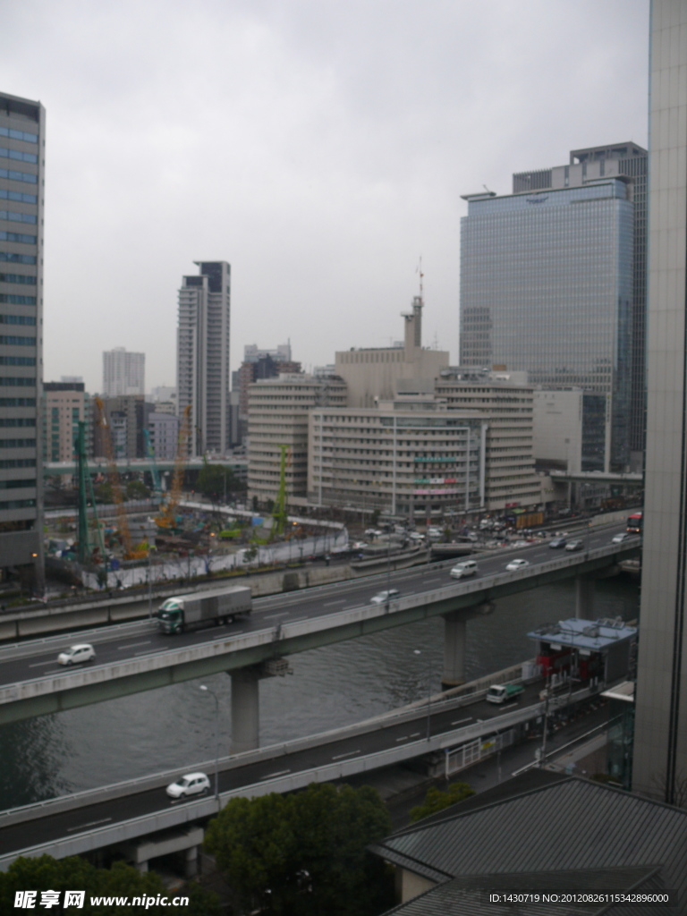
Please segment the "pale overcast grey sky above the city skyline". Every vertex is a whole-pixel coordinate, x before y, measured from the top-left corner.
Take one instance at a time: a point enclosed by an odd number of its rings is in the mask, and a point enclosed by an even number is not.
[[[232,265],[232,368],[398,339],[457,359],[460,195],[647,143],[649,0],[3,0],[0,90],[47,109],[46,380],[175,384],[177,290]]]

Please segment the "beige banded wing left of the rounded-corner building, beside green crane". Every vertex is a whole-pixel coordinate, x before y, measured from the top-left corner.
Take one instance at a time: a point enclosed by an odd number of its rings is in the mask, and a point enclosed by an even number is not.
[[[248,387],[248,498],[261,504],[277,498],[281,447],[287,446],[289,506],[307,504],[308,413],[345,407],[346,386],[336,376],[283,375]]]

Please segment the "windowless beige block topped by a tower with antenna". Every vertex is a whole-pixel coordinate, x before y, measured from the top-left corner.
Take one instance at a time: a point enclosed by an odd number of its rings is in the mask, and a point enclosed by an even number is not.
[[[412,311],[404,314],[403,346],[344,350],[335,357],[334,371],[348,386],[349,407],[374,407],[379,400],[396,396],[399,379],[438,378],[449,365],[443,350],[422,347],[422,299],[413,299]]]

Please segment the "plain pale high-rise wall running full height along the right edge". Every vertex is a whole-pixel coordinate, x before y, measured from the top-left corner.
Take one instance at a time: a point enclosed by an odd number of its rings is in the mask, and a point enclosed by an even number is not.
[[[687,5],[651,4],[647,463],[636,791],[687,786]]]

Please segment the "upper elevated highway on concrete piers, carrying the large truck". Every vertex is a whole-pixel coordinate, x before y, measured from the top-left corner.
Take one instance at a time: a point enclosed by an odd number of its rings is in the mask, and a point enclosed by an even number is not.
[[[227,671],[233,675],[234,750],[247,750],[257,746],[257,685],[266,663],[443,616],[443,682],[462,683],[465,621],[488,613],[499,597],[575,577],[580,583],[578,616],[592,616],[583,608],[590,577],[616,569],[640,547],[638,537],[609,543],[611,534],[588,534],[585,551],[533,545],[517,554],[480,557],[479,573],[465,581],[453,580],[452,564],[443,563],[273,595],[257,600],[245,621],[175,637],[145,622],[5,647],[0,649],[0,724]],[[527,558],[529,565],[507,572],[505,565],[514,555]],[[398,589],[398,597],[386,605],[370,603],[375,592],[389,587]],[[80,641],[93,643],[96,664],[78,671],[61,668],[58,651]]]

